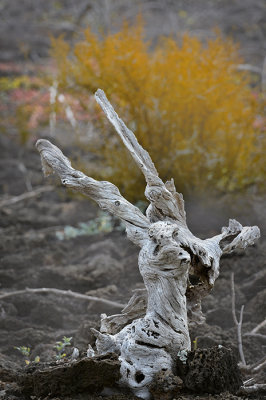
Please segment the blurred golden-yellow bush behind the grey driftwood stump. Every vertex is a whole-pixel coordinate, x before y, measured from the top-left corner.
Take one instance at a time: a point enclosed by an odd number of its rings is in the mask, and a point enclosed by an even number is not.
[[[263,184],[265,138],[255,123],[259,101],[247,73],[237,70],[241,59],[231,40],[218,34],[202,44],[185,35],[151,46],[138,22],[103,39],[87,29],[73,49],[62,38],[54,39],[53,56],[59,87],[77,97],[103,89],[160,176],[173,177],[179,191]],[[110,179],[131,199],[139,198],[141,174],[99,109],[94,112],[98,137],[89,149],[101,157],[97,178]]]

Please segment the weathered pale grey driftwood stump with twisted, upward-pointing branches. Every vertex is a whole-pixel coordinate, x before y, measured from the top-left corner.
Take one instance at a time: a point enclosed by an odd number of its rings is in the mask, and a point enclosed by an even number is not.
[[[146,290],[134,293],[121,314],[102,315],[95,331],[99,354],[116,352],[121,361],[121,384],[149,398],[148,386],[160,371],[172,370],[177,358],[190,350],[189,323],[204,320],[201,300],[219,276],[223,254],[252,245],[259,228],[242,227],[230,220],[221,234],[195,237],[187,227],[182,194],[173,180],[163,183],[149,154],[118,117],[104,92],[96,100],[131,153],[147,182],[150,202],[146,215],[121,196],[110,182],[96,181],[71,167],[63,153],[47,140],[38,140],[44,175],[55,172],[63,185],[95,200],[103,210],[119,217],[127,236],[140,247],[139,270]],[[190,277],[193,276],[192,285]]]

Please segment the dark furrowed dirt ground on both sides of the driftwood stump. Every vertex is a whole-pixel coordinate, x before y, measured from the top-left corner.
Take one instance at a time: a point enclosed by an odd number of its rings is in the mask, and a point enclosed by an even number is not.
[[[66,151],[70,153],[70,149]],[[19,162],[24,164],[26,172],[19,168]],[[39,156],[33,146],[21,150],[14,141],[2,136],[0,163],[2,165],[0,169],[2,199],[0,210],[0,399],[37,399],[36,395],[42,396],[46,392],[38,391],[36,387],[34,389],[34,383],[31,381],[27,383],[30,388],[22,394],[14,383],[21,374],[28,371],[30,375],[36,368],[42,369],[47,365],[43,363],[51,362],[51,365],[56,368],[64,363],[64,361],[56,363],[54,348],[55,342],[61,340],[63,336],[72,337],[72,345],[80,350],[81,355],[84,354],[87,345],[94,344],[90,328],[99,327],[100,313],[111,314],[119,310],[107,304],[60,293],[14,292],[23,291],[27,287],[57,288],[124,304],[131,296],[132,290],[142,287],[137,267],[138,249],[120,231],[60,240],[56,232],[62,231],[66,225],[77,226],[79,222],[94,219],[97,208],[88,199],[77,198],[66,192],[56,179],[44,181]],[[26,192],[26,182],[29,180],[33,187],[51,184],[54,188],[48,188],[47,192],[12,204],[11,199]],[[226,224],[227,214],[230,216],[230,213],[235,211],[234,216],[240,222],[258,223],[262,228],[263,237],[258,244],[244,253],[230,255],[222,260],[220,278],[216,282],[213,293],[203,304],[206,323],[192,328],[191,339],[197,340],[198,348],[210,348],[215,345],[230,348],[239,359],[236,328],[231,314],[230,276],[231,272],[234,272],[237,310],[242,304],[245,305],[244,353],[247,363],[252,364],[259,361],[266,353],[265,327],[258,332],[260,334],[258,336],[246,335],[265,318],[265,219],[259,217],[263,200],[257,199],[253,208],[248,201],[238,200],[237,210],[233,211],[232,204],[236,203],[236,200],[231,201],[231,207],[228,199],[223,203],[222,206],[221,202],[216,201],[213,208],[206,206],[204,209],[200,203],[196,207],[195,203],[188,201],[187,213],[193,232],[202,237],[212,235],[218,230],[220,223]],[[215,208],[217,214],[215,214]],[[216,219],[215,215],[217,215]],[[4,297],[7,293],[10,295]],[[14,348],[15,346],[30,347],[30,360],[33,361],[38,356],[40,363],[38,365],[31,363],[30,366],[25,367],[26,357],[23,357]],[[101,364],[100,368],[96,368],[95,374],[99,380],[101,375],[99,371],[105,371],[102,379],[105,379],[106,384],[112,387],[117,377],[117,361],[114,359],[104,362],[107,362],[109,367],[111,363],[111,369],[108,370],[108,367],[106,372]],[[91,373],[93,375],[93,372]],[[258,382],[265,380],[263,378],[265,373],[265,368],[260,371]],[[108,374],[111,374],[112,378]],[[244,379],[247,377],[247,375],[244,376]],[[66,387],[74,384],[73,377],[69,382],[72,383],[66,384]],[[102,382],[97,385],[89,389],[86,387],[86,396],[64,392],[61,388],[61,395],[65,393],[63,397],[60,395],[49,397],[46,393],[46,398],[100,399],[102,398],[99,397],[103,389]],[[91,393],[91,397],[88,397],[88,393]],[[131,398],[129,394],[111,395],[108,391],[104,393],[109,399]],[[198,393],[180,393],[178,398],[238,398],[229,393],[201,397],[196,397],[196,395]],[[168,397],[165,398],[168,399]],[[262,399],[263,394],[256,394],[253,398]]]

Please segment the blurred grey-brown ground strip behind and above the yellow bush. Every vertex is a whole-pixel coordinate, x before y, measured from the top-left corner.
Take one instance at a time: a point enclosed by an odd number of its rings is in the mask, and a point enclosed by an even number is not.
[[[76,40],[88,25],[100,34],[114,32],[140,12],[149,40],[187,31],[206,39],[218,28],[241,44],[245,62],[262,67],[264,0],[1,0],[0,61],[41,61],[49,54],[50,35]]]

